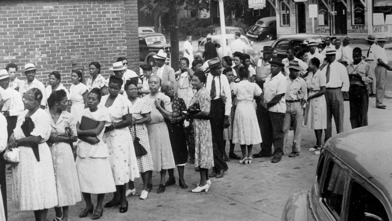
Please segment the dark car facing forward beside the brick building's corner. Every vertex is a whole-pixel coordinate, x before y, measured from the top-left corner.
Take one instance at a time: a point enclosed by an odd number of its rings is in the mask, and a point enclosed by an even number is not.
[[[163,34],[143,32],[139,33],[139,57],[140,62],[149,63],[152,67],[155,66],[155,60],[152,56],[156,55],[160,49],[163,49],[170,60],[170,47],[166,43],[166,38]]]

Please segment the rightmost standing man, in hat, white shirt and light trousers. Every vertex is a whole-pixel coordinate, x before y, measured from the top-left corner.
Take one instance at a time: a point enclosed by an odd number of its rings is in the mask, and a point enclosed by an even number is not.
[[[392,71],[392,66],[388,65],[388,57],[385,52],[384,45],[387,42],[386,38],[377,38],[377,44],[374,47],[373,58],[377,61],[374,75],[376,75],[376,107],[378,109],[385,109],[383,100],[385,97],[385,85],[387,84],[387,70]]]

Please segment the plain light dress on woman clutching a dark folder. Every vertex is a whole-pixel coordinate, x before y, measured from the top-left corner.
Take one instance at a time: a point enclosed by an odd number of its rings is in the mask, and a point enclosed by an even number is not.
[[[111,124],[109,112],[106,107],[98,107],[98,110],[94,112],[86,108],[82,116],[96,121],[105,121],[105,126]],[[102,139],[104,131],[105,128],[97,136],[100,140],[99,143],[90,144],[82,140],[78,142],[76,170],[78,171],[80,191],[82,192],[102,194],[116,191],[108,158],[109,150],[107,144]]]

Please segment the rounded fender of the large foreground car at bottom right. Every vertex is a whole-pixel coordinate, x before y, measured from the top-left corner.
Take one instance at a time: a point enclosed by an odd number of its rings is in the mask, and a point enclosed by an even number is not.
[[[299,190],[293,193],[283,208],[282,221],[307,221],[309,220],[308,193]],[[313,220],[313,219],[311,219]]]

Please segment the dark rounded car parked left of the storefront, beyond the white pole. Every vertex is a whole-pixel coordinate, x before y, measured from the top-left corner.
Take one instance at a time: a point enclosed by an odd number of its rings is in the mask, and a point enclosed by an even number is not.
[[[260,18],[246,35],[258,40],[274,40],[276,38],[276,16]]]

